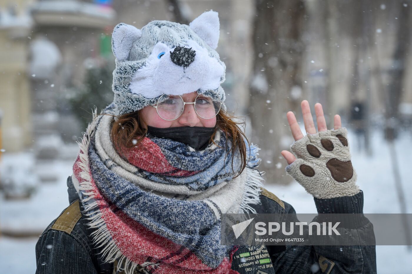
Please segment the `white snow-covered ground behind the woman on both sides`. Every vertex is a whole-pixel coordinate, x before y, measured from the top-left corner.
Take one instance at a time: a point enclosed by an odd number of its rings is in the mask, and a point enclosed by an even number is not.
[[[349,132],[352,163],[358,174],[358,185],[365,195],[365,213],[400,213],[392,171],[389,146],[383,141],[382,133],[373,132],[373,156],[368,157],[356,148],[356,138]],[[402,134],[402,132],[401,132]],[[408,213],[412,213],[412,137],[403,132],[396,141],[398,164],[403,190],[407,199]],[[73,155],[73,158],[75,155]],[[29,154],[11,155],[4,153],[2,163],[19,164],[21,159],[30,160]],[[42,231],[68,205],[66,179],[71,174],[73,161],[56,160],[42,166],[44,170],[58,176],[57,183],[41,183],[37,193],[30,200],[7,201],[0,197],[0,230],[26,228]],[[286,161],[283,161],[284,168]],[[286,176],[286,175],[285,175]],[[408,179],[409,178],[409,179]],[[266,188],[282,200],[293,205],[297,213],[314,213],[316,208],[311,195],[296,182],[289,186],[267,185]],[[35,244],[37,237],[0,237],[0,269],[12,274],[34,273]],[[406,246],[377,246],[378,273],[412,273],[412,251]],[[23,263],[24,262],[24,263]]]

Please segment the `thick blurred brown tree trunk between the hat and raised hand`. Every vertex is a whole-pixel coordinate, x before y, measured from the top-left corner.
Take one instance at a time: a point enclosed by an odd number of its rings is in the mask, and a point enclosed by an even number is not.
[[[262,149],[262,169],[269,182],[286,183],[290,178],[284,176],[281,167],[285,160],[280,152],[288,147],[281,141],[285,136],[291,137],[286,112],[300,105],[300,95],[293,94],[302,90],[305,6],[303,0],[256,0],[255,7],[248,109],[252,141]]]

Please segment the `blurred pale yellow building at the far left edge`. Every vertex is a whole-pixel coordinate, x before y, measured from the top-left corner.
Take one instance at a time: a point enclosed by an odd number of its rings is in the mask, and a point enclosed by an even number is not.
[[[28,36],[31,1],[0,1],[1,149],[19,151],[32,143],[31,93],[28,78]]]

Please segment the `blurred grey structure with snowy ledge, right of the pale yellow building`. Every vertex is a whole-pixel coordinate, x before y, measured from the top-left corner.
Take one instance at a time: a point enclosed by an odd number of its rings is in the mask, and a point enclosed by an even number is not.
[[[68,99],[82,85],[87,60],[98,58],[101,35],[112,29],[115,11],[108,1],[46,0],[30,6],[33,17],[31,86],[38,158],[56,157],[64,142],[82,132]],[[34,44],[36,43],[36,44]]]

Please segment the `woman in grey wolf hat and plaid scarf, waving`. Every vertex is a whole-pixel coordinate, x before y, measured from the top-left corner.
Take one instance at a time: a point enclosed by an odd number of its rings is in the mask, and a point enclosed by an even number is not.
[[[220,244],[222,214],[295,211],[262,188],[258,147],[226,112],[218,39],[213,11],[189,26],[115,27],[115,98],[84,133],[68,178],[70,206],[37,242],[36,273],[376,272],[373,246]],[[288,113],[296,141],[295,154],[282,152],[286,170],[316,197],[319,212],[361,213],[346,130],[339,116],[327,130],[315,108],[318,133],[302,102],[309,137]],[[321,162],[325,149],[333,163]],[[322,177],[330,166],[343,183]],[[373,233],[370,223],[355,229]],[[255,263],[245,255],[252,252],[264,259]]]

